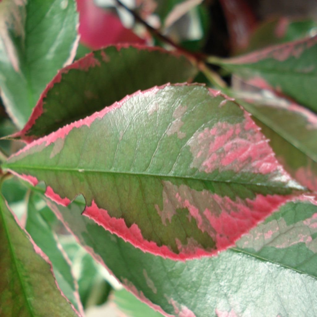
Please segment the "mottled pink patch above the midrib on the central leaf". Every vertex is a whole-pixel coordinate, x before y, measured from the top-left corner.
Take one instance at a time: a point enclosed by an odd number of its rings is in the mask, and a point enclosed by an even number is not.
[[[245,113],[243,122],[218,122],[211,129],[195,133],[188,142],[193,154],[191,167],[206,173],[217,169],[237,173],[275,173],[289,180],[289,175],[278,164],[268,141],[259,130]]]

